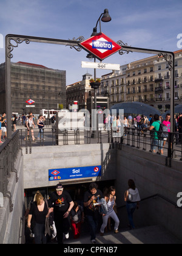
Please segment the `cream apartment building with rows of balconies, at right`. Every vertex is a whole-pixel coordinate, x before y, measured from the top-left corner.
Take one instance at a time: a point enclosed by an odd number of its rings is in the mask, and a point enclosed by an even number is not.
[[[175,104],[182,102],[182,50],[175,53]],[[109,105],[144,102],[161,112],[170,108],[170,71],[164,57],[154,55],[120,67],[101,77],[99,96],[109,97]]]

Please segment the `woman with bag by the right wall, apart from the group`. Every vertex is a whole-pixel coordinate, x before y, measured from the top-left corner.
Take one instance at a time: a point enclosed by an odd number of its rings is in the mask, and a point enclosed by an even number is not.
[[[135,182],[133,180],[129,180],[128,185],[129,189],[124,193],[124,201],[126,202],[129,227],[130,229],[135,229],[135,225],[133,223],[133,213],[135,212],[136,208],[138,210],[141,199],[139,191],[135,187]]]

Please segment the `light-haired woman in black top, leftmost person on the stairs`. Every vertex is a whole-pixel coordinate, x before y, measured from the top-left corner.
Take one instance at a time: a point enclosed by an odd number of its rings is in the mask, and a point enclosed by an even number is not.
[[[35,244],[46,244],[45,236],[45,219],[49,209],[44,197],[39,191],[35,196],[35,202],[31,205],[27,227],[30,228],[31,221],[33,220],[33,232],[35,235]]]

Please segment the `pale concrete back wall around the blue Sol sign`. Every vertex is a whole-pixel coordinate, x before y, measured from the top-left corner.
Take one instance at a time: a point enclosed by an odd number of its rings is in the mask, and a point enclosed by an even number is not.
[[[102,165],[102,177],[59,180],[70,182],[92,182],[116,179],[116,150],[110,144],[86,144],[74,146],[46,146],[32,148],[32,154],[24,158],[24,188],[52,187],[58,183],[49,181],[49,169],[76,168]]]

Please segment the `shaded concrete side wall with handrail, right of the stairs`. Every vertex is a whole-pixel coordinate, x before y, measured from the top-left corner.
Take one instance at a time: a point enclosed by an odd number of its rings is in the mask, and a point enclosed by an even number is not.
[[[166,158],[150,152],[122,146],[117,151],[117,179],[116,188],[118,207],[124,205],[124,191],[127,190],[127,181],[135,180],[140,190],[141,199],[161,194],[177,203],[177,194],[182,191],[182,163],[172,160],[172,168],[165,166]],[[118,193],[119,192],[119,193]],[[141,202],[140,210],[135,212],[136,226],[161,224],[182,240],[182,212],[160,197]],[[126,227],[126,208],[120,209],[121,226]]]

